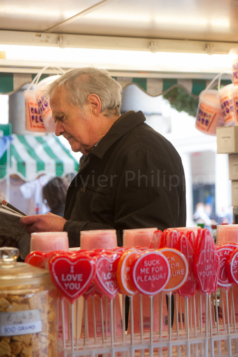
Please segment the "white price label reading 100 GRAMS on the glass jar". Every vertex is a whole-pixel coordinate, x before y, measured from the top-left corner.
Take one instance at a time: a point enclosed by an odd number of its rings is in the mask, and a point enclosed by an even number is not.
[[[40,309],[0,312],[0,336],[26,335],[41,331]]]

